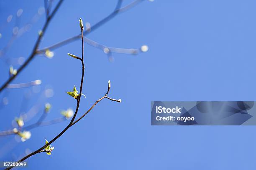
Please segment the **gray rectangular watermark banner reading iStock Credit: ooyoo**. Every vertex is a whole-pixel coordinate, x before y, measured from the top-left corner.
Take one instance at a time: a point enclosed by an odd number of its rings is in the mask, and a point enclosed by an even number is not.
[[[151,125],[256,125],[254,101],[151,102]]]

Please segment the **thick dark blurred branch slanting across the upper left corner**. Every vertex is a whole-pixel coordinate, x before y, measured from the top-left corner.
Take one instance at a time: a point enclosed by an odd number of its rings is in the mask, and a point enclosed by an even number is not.
[[[28,65],[29,62],[36,56],[36,51],[38,49],[38,46],[41,42],[41,38],[43,37],[44,33],[46,32],[46,29],[51,21],[51,19],[54,17],[56,14],[57,10],[59,9],[61,3],[63,0],[59,0],[58,4],[54,8],[54,11],[49,15],[49,17],[46,19],[46,23],[44,24],[44,27],[42,29],[42,33],[38,35],[38,38],[36,40],[36,44],[33,47],[33,50],[31,52],[31,55],[28,57],[28,59],[23,63],[23,65],[20,66],[20,68],[17,70],[17,74],[12,75],[1,87],[0,87],[0,92]]]

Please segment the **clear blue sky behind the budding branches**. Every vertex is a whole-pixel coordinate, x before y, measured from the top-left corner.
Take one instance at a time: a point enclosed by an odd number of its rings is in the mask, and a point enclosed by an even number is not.
[[[131,2],[124,0],[124,5]],[[79,34],[78,20],[92,25],[111,13],[115,1],[64,1],[52,20],[40,47],[46,47]],[[56,1],[55,1],[56,4]],[[20,24],[27,23],[44,6],[43,0],[0,2],[0,23],[23,8]],[[148,45],[139,55],[114,54],[115,62],[85,45],[82,115],[105,94],[111,80],[110,97],[122,103],[103,100],[83,120],[53,143],[51,156],[45,153],[28,159],[27,169],[88,170],[255,170],[256,132],[254,126],[151,126],[151,101],[256,100],[256,22],[254,0],[155,0],[145,1],[118,15],[95,30],[89,38],[104,45],[137,48]],[[13,20],[14,21],[14,20]],[[3,48],[14,22],[0,39]],[[5,57],[28,57],[44,15],[7,52]],[[65,92],[79,87],[81,67],[67,52],[81,54],[76,41],[54,50],[54,57],[37,56],[13,81],[41,79],[41,90],[49,85],[54,96],[44,99],[53,105],[47,120],[60,116],[60,110],[76,101]],[[18,65],[14,65],[18,67]],[[8,78],[8,66],[0,62],[0,82]],[[1,108],[0,130],[12,128],[11,121],[28,111],[40,92],[25,105],[23,94],[31,88],[5,90],[9,104]],[[14,136],[0,138],[0,160],[15,160],[25,150],[44,145],[68,122],[31,130],[31,139],[15,142]],[[8,148],[8,149],[7,149]]]

